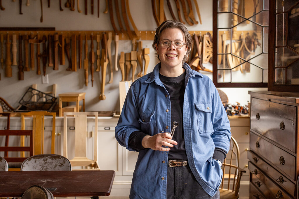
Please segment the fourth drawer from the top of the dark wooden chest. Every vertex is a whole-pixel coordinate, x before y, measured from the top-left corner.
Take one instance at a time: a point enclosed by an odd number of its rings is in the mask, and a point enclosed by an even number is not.
[[[256,185],[257,189],[260,192],[264,193],[267,198],[288,198],[290,197],[283,189],[281,189],[275,182],[273,182],[270,178],[264,175],[257,167],[253,164],[250,164],[251,168],[251,182]],[[256,169],[257,173],[255,174],[254,171]]]

